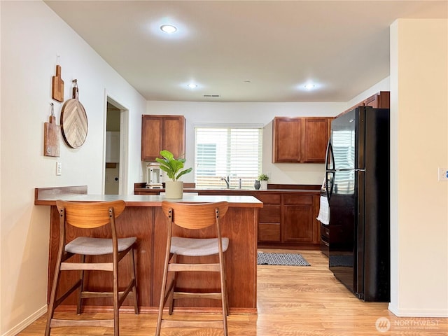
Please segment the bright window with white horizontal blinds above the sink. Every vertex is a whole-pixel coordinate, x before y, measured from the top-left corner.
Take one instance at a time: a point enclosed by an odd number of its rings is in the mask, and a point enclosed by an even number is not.
[[[196,188],[253,188],[261,165],[262,126],[195,127]]]

